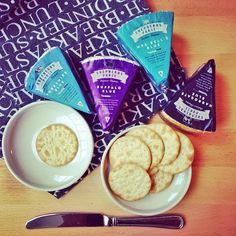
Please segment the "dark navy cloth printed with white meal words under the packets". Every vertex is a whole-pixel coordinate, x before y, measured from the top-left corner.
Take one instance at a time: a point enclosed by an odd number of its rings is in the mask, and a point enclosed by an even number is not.
[[[60,47],[79,74],[77,79],[83,80],[80,65],[83,59],[94,55],[129,57],[118,44],[117,28],[149,12],[142,0],[25,0],[18,1],[18,5],[10,1],[6,4],[8,10],[0,15],[0,157],[2,135],[9,119],[19,108],[42,100],[28,92],[24,82],[32,65],[46,50]],[[66,194],[100,165],[107,144],[117,133],[147,122],[184,86],[185,74],[173,50],[168,79],[170,89],[160,93],[140,72],[110,132],[102,129],[96,114],[81,113],[94,137],[92,162],[75,184],[51,194],[56,198]]]

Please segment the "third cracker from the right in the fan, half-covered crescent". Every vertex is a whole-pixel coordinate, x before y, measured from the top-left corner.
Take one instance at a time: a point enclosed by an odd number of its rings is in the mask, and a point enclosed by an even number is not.
[[[147,144],[151,151],[152,161],[149,168],[150,174],[155,174],[157,172],[157,165],[161,162],[164,155],[164,144],[161,137],[153,130],[149,129],[147,126],[141,126],[130,130],[126,135],[132,135],[139,137],[143,142]]]

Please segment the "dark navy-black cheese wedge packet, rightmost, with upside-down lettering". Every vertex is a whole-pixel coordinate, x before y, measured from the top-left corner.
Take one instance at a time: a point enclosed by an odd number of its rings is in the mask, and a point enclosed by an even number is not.
[[[215,61],[211,59],[203,64],[160,114],[167,122],[188,132],[214,132]]]

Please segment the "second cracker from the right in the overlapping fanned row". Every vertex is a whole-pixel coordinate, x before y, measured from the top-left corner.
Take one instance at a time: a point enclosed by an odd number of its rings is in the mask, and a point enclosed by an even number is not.
[[[165,153],[160,165],[170,164],[179,154],[180,141],[177,133],[171,127],[163,123],[150,124],[148,127],[157,132],[164,143]]]

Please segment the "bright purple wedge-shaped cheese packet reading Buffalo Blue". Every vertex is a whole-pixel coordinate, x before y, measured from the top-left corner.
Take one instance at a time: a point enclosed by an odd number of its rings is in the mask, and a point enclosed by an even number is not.
[[[126,58],[96,56],[82,61],[101,126],[114,124],[139,65]]]

